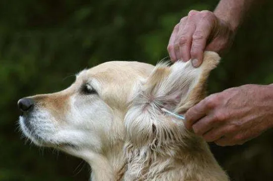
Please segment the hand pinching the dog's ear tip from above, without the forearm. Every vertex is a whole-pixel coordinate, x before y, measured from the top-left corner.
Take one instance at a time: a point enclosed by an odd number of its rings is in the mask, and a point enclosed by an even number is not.
[[[220,54],[231,45],[233,36],[228,22],[213,12],[191,10],[174,27],[167,49],[173,61],[191,59],[198,67],[205,50]]]

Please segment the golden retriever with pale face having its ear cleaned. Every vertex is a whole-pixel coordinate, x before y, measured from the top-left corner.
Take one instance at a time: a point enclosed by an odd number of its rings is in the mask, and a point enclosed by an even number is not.
[[[219,60],[205,52],[198,68],[191,61],[99,64],[61,92],[20,99],[21,130],[38,146],[85,160],[92,181],[228,181],[202,137],[161,111],[183,114],[202,100]]]

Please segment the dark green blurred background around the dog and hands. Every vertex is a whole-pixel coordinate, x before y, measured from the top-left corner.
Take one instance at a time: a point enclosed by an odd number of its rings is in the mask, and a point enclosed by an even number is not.
[[[218,0],[1,0],[0,181],[87,181],[80,159],[21,138],[17,100],[67,87],[74,73],[109,60],[155,64],[168,56],[173,27],[189,10]],[[209,93],[247,83],[273,83],[273,2],[258,3],[230,52],[213,70]],[[217,147],[234,181],[273,181],[273,133]]]

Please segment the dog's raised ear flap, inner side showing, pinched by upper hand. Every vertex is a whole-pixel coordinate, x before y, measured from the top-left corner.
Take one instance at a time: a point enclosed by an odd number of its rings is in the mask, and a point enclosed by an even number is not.
[[[205,52],[198,68],[191,61],[177,61],[172,66],[159,63],[144,85],[144,94],[160,107],[186,112],[205,97],[206,79],[219,60],[217,53]]]

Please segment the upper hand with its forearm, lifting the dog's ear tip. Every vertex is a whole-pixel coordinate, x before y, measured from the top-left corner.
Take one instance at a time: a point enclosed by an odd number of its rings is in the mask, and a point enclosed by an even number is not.
[[[192,60],[198,67],[205,50],[221,54],[231,44],[242,19],[254,0],[221,0],[214,12],[191,10],[171,34],[171,60]]]

